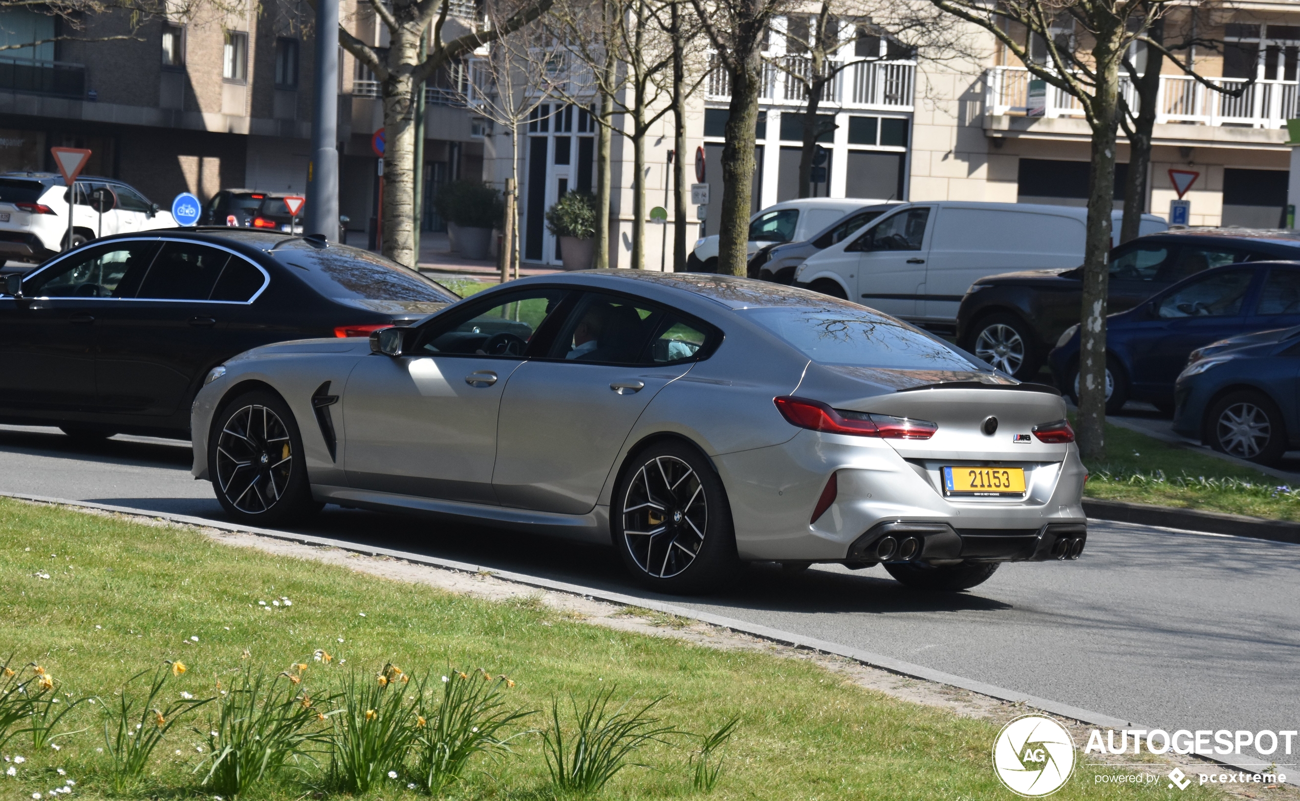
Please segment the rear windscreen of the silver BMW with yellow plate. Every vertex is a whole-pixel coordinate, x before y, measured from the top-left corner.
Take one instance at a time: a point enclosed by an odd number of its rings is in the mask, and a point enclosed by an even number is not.
[[[819,365],[898,370],[989,369],[905,322],[846,304],[744,309],[740,314]]]

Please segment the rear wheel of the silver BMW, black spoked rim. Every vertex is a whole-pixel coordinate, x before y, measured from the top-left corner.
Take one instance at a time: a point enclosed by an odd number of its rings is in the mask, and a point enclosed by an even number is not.
[[[722,478],[685,443],[651,444],[628,458],[610,530],[623,563],[649,589],[714,592],[740,567]]]

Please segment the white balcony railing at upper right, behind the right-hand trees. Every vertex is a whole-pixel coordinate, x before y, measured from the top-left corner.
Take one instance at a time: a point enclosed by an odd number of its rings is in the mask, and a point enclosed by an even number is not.
[[[1026,114],[1028,108],[1030,73],[1020,66],[996,66],[985,73],[985,103],[989,114]],[[1300,82],[1257,80],[1244,78],[1210,78],[1216,86],[1240,90],[1225,95],[1190,75],[1161,75],[1156,95],[1156,122],[1192,122],[1200,125],[1232,125],[1257,129],[1286,127],[1287,119],[1300,114]],[[1138,91],[1127,78],[1119,91],[1130,108],[1140,106]],[[1046,87],[1044,117],[1082,117],[1083,108],[1071,95]]]

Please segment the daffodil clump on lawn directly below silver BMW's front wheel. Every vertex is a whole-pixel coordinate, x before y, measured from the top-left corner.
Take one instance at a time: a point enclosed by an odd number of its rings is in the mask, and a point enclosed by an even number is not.
[[[302,684],[307,665],[295,665],[266,682],[244,669],[225,696],[217,700],[216,721],[209,721],[208,756],[202,784],[213,792],[242,796],[264,776],[277,774],[287,761],[306,757],[309,746],[329,741],[320,726],[333,697],[312,698]],[[199,732],[203,735],[204,732]]]

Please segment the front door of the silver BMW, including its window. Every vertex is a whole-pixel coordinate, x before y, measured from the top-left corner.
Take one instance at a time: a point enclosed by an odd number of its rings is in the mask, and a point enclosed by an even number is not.
[[[363,358],[342,400],[348,484],[495,505],[502,392],[569,295],[494,293],[430,319],[402,356]]]

